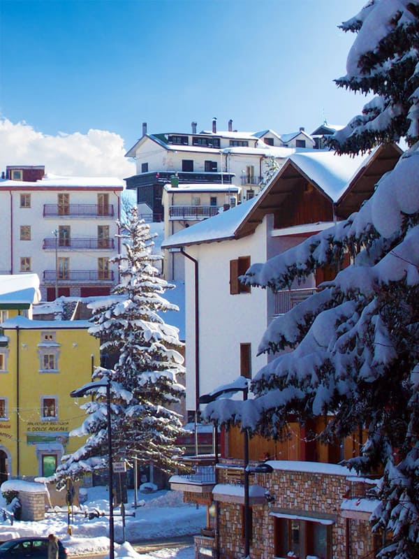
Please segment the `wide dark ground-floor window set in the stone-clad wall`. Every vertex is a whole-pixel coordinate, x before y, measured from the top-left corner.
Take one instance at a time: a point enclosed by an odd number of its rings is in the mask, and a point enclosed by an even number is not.
[[[274,517],[274,555],[330,559],[330,526],[320,522]]]

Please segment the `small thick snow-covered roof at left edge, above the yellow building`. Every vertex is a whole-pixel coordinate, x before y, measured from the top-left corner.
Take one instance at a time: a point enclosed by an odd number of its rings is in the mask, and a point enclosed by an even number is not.
[[[0,308],[34,305],[41,300],[37,274],[0,275]]]

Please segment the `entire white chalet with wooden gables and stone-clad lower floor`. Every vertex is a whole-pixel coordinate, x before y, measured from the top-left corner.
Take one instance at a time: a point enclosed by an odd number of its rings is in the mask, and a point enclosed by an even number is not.
[[[358,210],[400,153],[387,145],[355,158],[293,154],[256,198],[163,242],[185,258],[189,416],[198,418],[203,395],[239,376],[251,379],[272,358],[257,356],[272,319],[303,304],[337,270],[317,270],[277,293],[241,284],[240,275],[251,263],[267,261]],[[243,389],[237,393],[244,398]],[[195,539],[197,559],[245,557],[246,545],[260,559],[355,559],[379,549],[382,542],[368,522],[374,480],[338,465],[359,453],[365,433],[321,444],[316,433],[322,421],[327,418],[303,428],[290,418],[284,442],[247,441],[230,428],[221,430],[218,444],[214,431],[215,460],[191,458],[194,473],[170,479],[185,500],[207,505],[207,526]]]

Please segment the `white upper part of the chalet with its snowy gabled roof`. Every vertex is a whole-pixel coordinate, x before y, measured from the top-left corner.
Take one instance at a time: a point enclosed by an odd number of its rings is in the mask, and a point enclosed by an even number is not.
[[[278,314],[307,298],[336,270],[317,270],[289,291],[242,285],[252,263],[265,262],[344,219],[374,191],[377,177],[399,158],[395,146],[369,157],[334,152],[294,154],[255,198],[163,241],[185,260],[186,409],[200,395],[251,377],[267,363],[260,339]]]

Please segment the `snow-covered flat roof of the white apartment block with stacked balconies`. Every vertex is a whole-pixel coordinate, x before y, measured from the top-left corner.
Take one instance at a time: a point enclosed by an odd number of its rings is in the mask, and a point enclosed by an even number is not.
[[[61,177],[59,175],[52,175],[48,173],[41,180],[36,181],[22,181],[22,180],[0,180],[0,188],[86,188],[86,189],[100,189],[100,188],[113,188],[121,190],[124,188],[124,181],[116,177]]]

